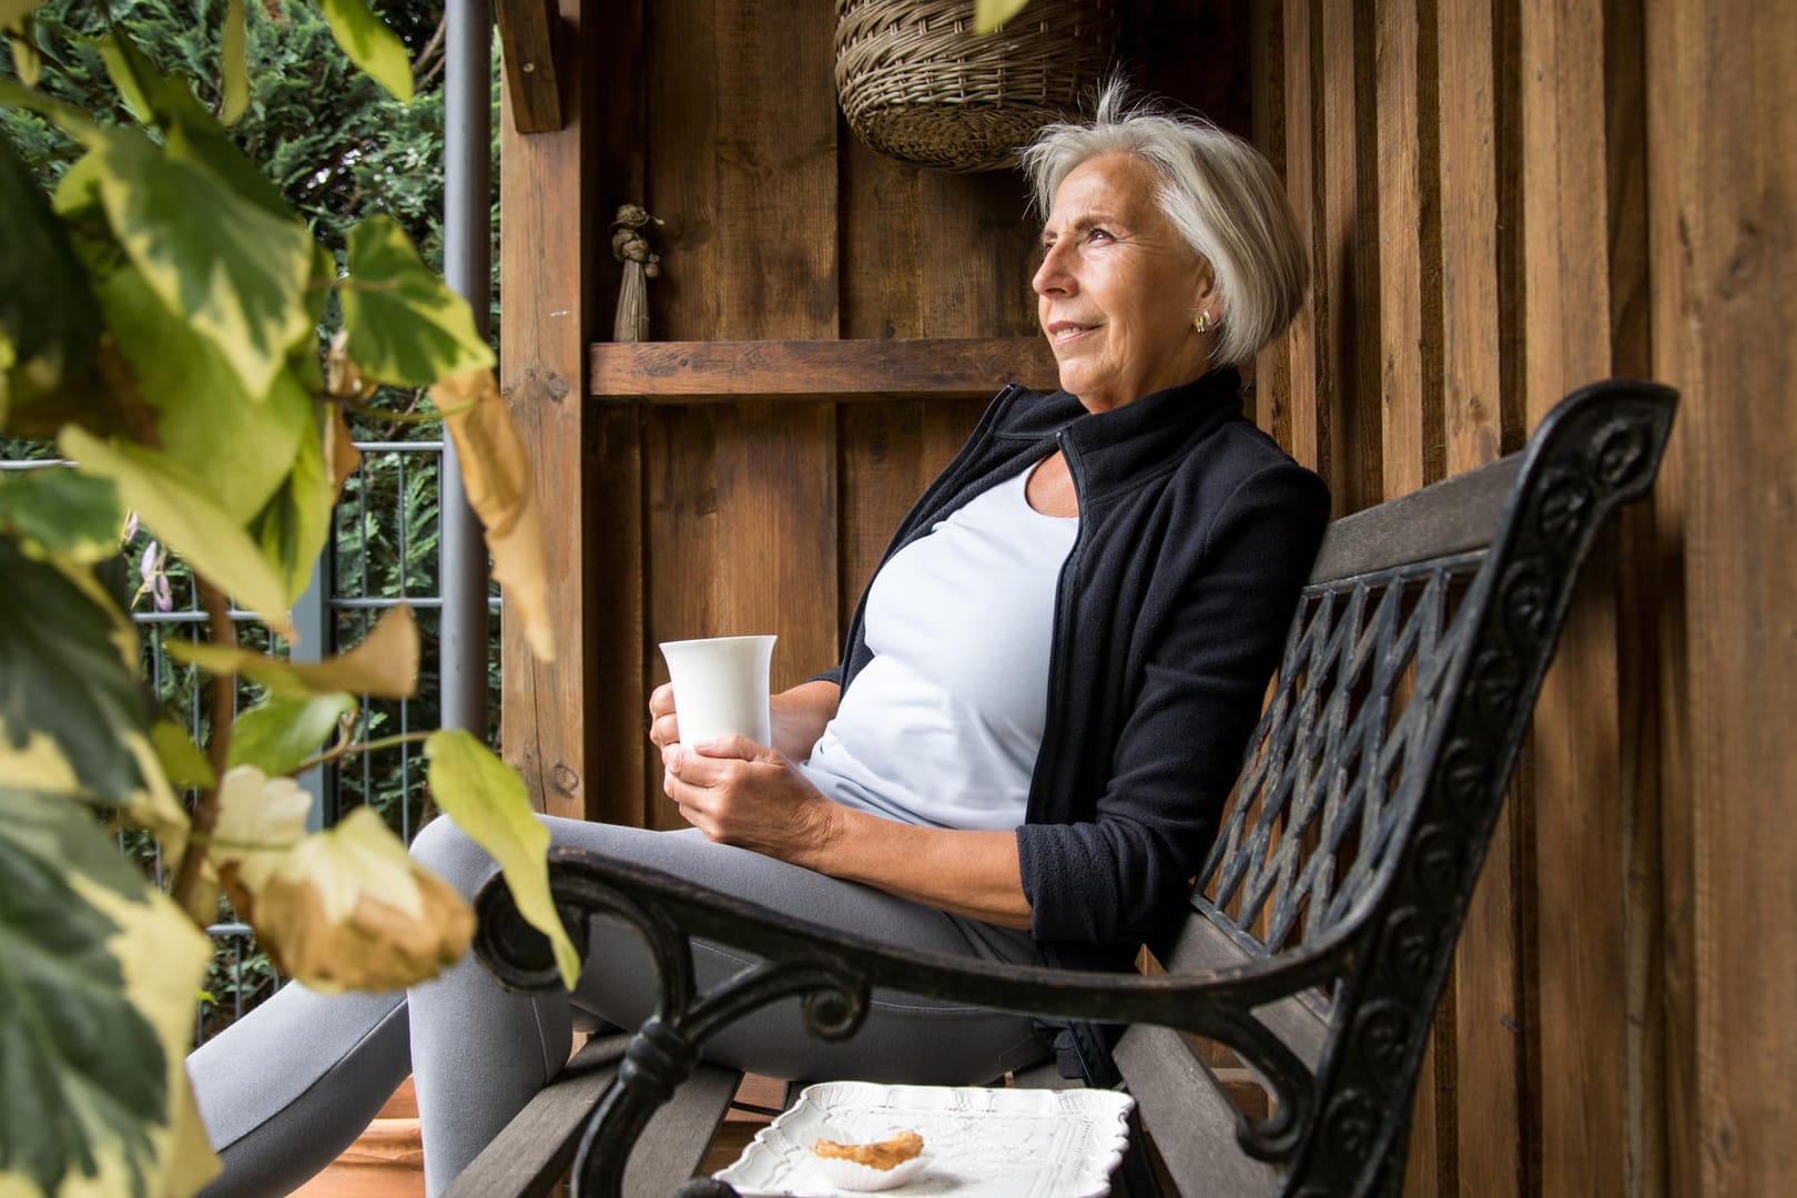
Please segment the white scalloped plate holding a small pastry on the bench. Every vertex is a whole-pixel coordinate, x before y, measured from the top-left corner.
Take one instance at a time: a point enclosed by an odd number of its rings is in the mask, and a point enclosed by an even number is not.
[[[742,1194],[859,1198],[823,1175],[810,1151],[818,1130],[852,1142],[911,1130],[924,1137],[924,1167],[886,1194],[1103,1198],[1129,1142],[1125,1119],[1134,1105],[1111,1090],[819,1081],[713,1176]]]

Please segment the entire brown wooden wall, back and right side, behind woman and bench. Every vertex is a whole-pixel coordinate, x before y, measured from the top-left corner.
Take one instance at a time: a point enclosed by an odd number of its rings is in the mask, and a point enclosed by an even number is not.
[[[627,199],[665,221],[658,339],[1028,334],[1035,226],[1014,172],[918,171],[841,128],[828,5],[561,9],[570,126],[505,133],[501,383],[555,515],[562,657],[532,666],[507,632],[503,736],[546,808],[665,826],[656,641],[778,630],[776,686],[834,659],[978,404],[582,404],[604,223]],[[1684,392],[1468,911],[1407,1193],[1784,1193],[1797,5],[1123,9],[1127,68],[1283,171],[1314,291],[1256,415],[1337,514],[1520,445],[1589,379]]]

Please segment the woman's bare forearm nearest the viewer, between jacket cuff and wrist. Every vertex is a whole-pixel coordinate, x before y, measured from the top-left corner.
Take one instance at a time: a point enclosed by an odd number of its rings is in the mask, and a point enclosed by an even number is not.
[[[1030,927],[1014,832],[922,828],[832,805],[828,830],[800,864],[952,914]]]

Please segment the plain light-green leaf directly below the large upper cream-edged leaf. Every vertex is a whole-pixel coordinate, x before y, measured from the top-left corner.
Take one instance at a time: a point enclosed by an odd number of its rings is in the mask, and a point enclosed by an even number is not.
[[[244,392],[217,347],[171,313],[133,266],[113,271],[99,295],[137,390],[156,413],[162,453],[246,524],[286,483],[302,442],[316,436],[311,399],[286,368],[266,395]],[[223,462],[230,469],[219,469]]]

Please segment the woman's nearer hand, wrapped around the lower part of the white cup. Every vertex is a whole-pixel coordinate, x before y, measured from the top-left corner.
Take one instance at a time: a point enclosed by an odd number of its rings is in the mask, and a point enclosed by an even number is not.
[[[841,808],[780,751],[744,736],[721,736],[697,749],[676,738],[663,745],[661,767],[663,792],[712,841],[798,866],[818,868],[828,857]]]

